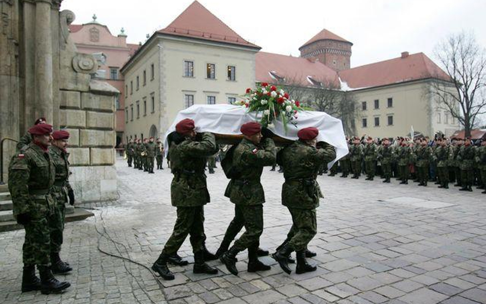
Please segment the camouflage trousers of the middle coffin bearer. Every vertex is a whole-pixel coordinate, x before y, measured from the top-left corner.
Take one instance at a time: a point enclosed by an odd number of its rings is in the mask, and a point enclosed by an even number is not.
[[[260,246],[260,235],[263,232],[263,205],[235,205],[236,222],[242,222],[245,232],[235,241],[234,247],[243,251],[250,247]]]

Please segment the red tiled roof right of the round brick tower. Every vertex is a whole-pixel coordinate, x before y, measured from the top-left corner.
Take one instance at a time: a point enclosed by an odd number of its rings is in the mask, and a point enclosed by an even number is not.
[[[449,76],[424,53],[384,60],[381,62],[343,70],[341,80],[352,89],[378,87],[410,80],[439,78],[449,80]]]

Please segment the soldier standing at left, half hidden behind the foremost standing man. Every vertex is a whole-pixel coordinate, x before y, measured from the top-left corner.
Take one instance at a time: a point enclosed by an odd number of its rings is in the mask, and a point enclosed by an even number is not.
[[[66,151],[69,140],[69,132],[59,130],[52,133],[52,145],[49,147],[49,155],[56,169],[56,177],[51,195],[55,199],[54,214],[49,218],[51,231],[51,269],[53,273],[66,273],[73,270],[69,264],[59,257],[63,245],[64,220],[66,216],[66,203],[74,205],[74,191],[69,184],[69,153]]]

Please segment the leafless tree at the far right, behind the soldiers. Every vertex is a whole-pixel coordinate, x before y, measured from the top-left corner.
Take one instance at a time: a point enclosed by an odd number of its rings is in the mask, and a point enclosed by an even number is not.
[[[452,34],[435,48],[435,55],[450,79],[437,75],[431,94],[438,107],[464,127],[465,136],[486,113],[486,51],[473,34]]]

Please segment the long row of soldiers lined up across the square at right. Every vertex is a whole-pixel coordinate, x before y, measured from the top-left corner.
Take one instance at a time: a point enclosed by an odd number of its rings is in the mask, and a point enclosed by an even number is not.
[[[411,177],[419,186],[435,181],[439,188],[448,189],[449,183],[461,187],[461,191],[473,191],[472,186],[486,189],[486,140],[475,144],[471,138],[451,138],[438,135],[433,141],[427,137],[398,137],[394,141],[383,138],[352,137],[348,140],[349,153],[330,169],[330,176],[359,178],[365,172],[367,180],[373,180],[377,168],[381,169],[383,183],[396,177],[400,184],[408,184]],[[486,193],[483,191],[482,193]]]

